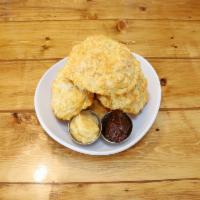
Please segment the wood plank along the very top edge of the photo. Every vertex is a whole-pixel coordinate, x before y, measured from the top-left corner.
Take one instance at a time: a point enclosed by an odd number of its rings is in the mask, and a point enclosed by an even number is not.
[[[200,19],[196,0],[37,0],[3,1],[1,21],[74,20],[74,19]]]

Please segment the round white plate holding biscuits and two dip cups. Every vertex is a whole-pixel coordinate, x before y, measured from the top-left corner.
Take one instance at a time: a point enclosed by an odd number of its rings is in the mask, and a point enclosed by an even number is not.
[[[135,54],[136,59],[141,63],[142,70],[148,80],[149,100],[143,111],[132,118],[133,133],[129,140],[124,143],[111,145],[99,139],[90,146],[75,144],[67,131],[67,123],[61,122],[54,116],[51,110],[51,85],[57,71],[67,62],[64,58],[53,65],[40,79],[35,91],[35,111],[43,129],[58,143],[74,151],[90,155],[110,155],[128,149],[136,144],[147,133],[152,126],[159,110],[161,100],[161,88],[159,78],[151,64],[142,56]]]

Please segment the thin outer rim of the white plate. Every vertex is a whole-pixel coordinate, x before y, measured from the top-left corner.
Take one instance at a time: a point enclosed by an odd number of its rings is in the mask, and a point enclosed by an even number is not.
[[[146,60],[143,56],[137,54],[137,53],[132,53],[136,59],[137,57],[143,59],[145,62],[147,62],[149,64],[149,66],[151,67],[151,70],[154,74],[154,77],[157,79],[157,81],[160,83],[159,77],[155,71],[155,69],[153,68],[153,66],[148,62],[148,60]],[[134,146],[136,143],[138,143],[147,133],[148,130],[152,127],[157,115],[158,115],[158,111],[160,108],[160,103],[161,103],[161,86],[159,84],[158,86],[158,100],[156,102],[156,111],[154,112],[154,115],[150,118],[150,122],[148,123],[148,126],[146,126],[146,128],[143,130],[142,134],[140,134],[135,140],[133,140],[133,142],[128,143],[127,145],[124,145],[122,147],[120,147],[119,149],[113,149],[113,150],[109,150],[109,151],[105,151],[105,152],[97,152],[94,150],[87,150],[87,149],[80,149],[76,146],[73,146],[72,144],[69,144],[65,141],[63,141],[62,139],[60,139],[56,134],[53,134],[52,131],[46,126],[46,124],[43,122],[40,114],[39,114],[39,108],[37,106],[37,99],[39,96],[39,88],[43,82],[43,79],[46,77],[46,75],[49,73],[49,71],[51,71],[55,65],[58,65],[59,63],[62,63],[63,61],[66,61],[67,57],[59,60],[58,62],[54,63],[40,78],[37,87],[35,89],[35,95],[34,95],[34,108],[35,108],[35,112],[36,112],[36,116],[40,122],[41,127],[44,129],[44,131],[46,132],[46,134],[48,134],[51,138],[53,138],[56,142],[58,142],[59,144],[62,144],[63,146],[74,150],[76,152],[79,153],[83,153],[83,154],[88,154],[88,155],[97,155],[97,156],[105,156],[105,155],[112,155],[112,154],[116,154],[122,151],[125,151],[127,149],[129,149],[130,147]]]

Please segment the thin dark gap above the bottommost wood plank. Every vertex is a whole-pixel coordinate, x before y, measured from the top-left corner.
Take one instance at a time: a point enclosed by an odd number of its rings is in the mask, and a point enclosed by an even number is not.
[[[0,185],[4,184],[24,184],[24,185],[73,185],[73,184],[119,184],[119,183],[159,183],[159,182],[176,182],[176,181],[200,181],[200,178],[180,178],[180,179],[160,179],[160,180],[138,180],[138,181],[94,181],[94,182],[0,182]]]

